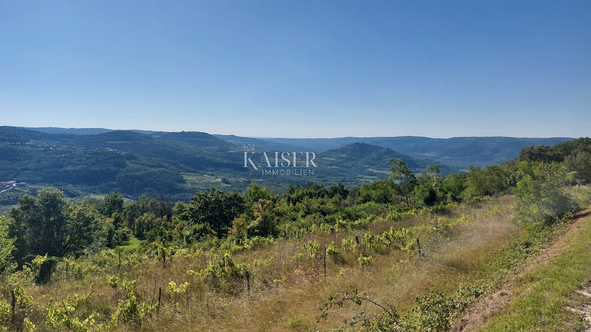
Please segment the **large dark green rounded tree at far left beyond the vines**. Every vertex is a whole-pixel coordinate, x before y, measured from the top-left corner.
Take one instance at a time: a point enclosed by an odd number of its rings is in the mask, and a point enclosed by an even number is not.
[[[37,197],[21,196],[18,206],[10,211],[17,261],[22,262],[26,255],[76,254],[93,241],[93,232],[99,228],[97,215],[91,204],[70,206],[56,188],[41,189]]]

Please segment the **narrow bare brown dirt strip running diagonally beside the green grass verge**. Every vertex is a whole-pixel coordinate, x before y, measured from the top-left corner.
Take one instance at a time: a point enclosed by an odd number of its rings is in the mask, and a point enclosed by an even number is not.
[[[483,323],[489,320],[495,313],[499,310],[502,310],[506,305],[508,305],[511,300],[513,299],[513,294],[511,293],[512,288],[515,285],[515,281],[519,278],[523,277],[524,274],[530,271],[532,268],[540,264],[541,262],[547,261],[549,258],[553,257],[558,251],[558,244],[560,243],[560,238],[566,234],[570,234],[571,232],[575,232],[577,228],[579,228],[580,223],[583,222],[585,218],[591,215],[591,208],[587,208],[582,212],[579,212],[574,218],[573,221],[567,228],[567,231],[564,234],[560,235],[553,244],[548,246],[544,251],[540,252],[540,254],[536,255],[533,259],[526,262],[525,264],[519,266],[515,269],[514,273],[506,278],[504,284],[491,294],[485,295],[484,297],[480,298],[475,304],[472,305],[467,311],[464,317],[460,318],[456,324],[454,324],[452,330],[453,331],[471,331],[475,328],[479,327]],[[580,309],[573,309],[577,312],[586,313],[584,314],[587,319],[590,319],[591,313],[591,291],[589,288],[586,290],[578,291],[580,294],[589,296],[590,304],[587,304],[585,307]],[[584,294],[586,293],[586,294]],[[591,332],[591,327],[587,327],[587,331]]]

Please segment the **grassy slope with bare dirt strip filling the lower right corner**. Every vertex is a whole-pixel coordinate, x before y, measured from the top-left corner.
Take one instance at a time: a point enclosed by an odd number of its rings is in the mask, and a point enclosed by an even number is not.
[[[581,321],[591,317],[590,215],[589,208],[579,213],[556,242],[473,305],[455,330],[591,331]]]

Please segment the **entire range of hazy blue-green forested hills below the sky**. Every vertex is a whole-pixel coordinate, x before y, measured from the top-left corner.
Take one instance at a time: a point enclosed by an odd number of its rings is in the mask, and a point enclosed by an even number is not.
[[[102,129],[88,129],[89,133]],[[139,133],[128,130],[83,134],[74,129],[41,132],[0,127],[0,181],[26,182],[8,190],[0,205],[14,204],[18,193],[35,186],[57,186],[71,197],[119,190],[127,198],[142,193],[188,200],[211,187],[243,190],[256,180],[281,193],[290,183],[309,181],[348,186],[389,175],[389,159],[404,160],[415,173],[440,164],[444,174],[466,165],[490,165],[516,157],[522,146],[553,145],[554,139],[511,137],[343,137],[340,139],[250,139],[202,132]],[[74,134],[76,132],[76,134]],[[356,142],[361,141],[361,142]],[[316,165],[306,176],[268,175],[245,167],[245,145],[254,146],[253,163],[262,152],[315,152]],[[335,147],[336,146],[336,147]],[[327,149],[330,147],[330,149]],[[258,158],[258,159],[257,159]],[[248,165],[249,166],[249,165]],[[296,170],[296,168],[292,168]]]

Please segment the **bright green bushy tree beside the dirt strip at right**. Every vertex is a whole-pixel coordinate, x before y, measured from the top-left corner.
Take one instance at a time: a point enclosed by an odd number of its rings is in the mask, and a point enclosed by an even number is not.
[[[576,202],[567,189],[574,173],[568,172],[566,166],[520,162],[518,172],[520,179],[515,189],[518,221],[548,224],[576,210]]]

